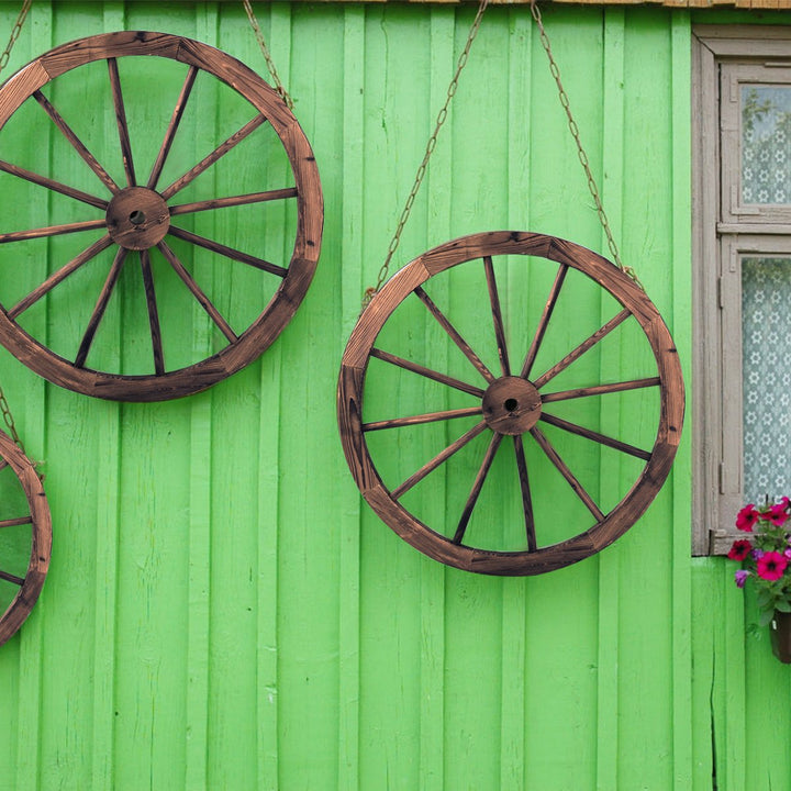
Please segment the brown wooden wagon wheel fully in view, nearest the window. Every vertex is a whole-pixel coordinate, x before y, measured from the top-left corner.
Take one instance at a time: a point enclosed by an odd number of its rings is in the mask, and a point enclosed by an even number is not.
[[[524,261],[525,266],[536,266],[542,258],[559,264],[532,341],[522,338],[524,342],[522,354],[526,349],[526,356],[519,371],[515,368],[512,370],[509,363],[509,359],[514,359],[516,346],[515,344],[512,346],[509,355],[492,264],[495,257],[505,255],[523,256],[524,258],[519,260]],[[472,265],[481,266],[486,272],[500,357],[499,375],[492,374],[487,368],[458,328],[423,289],[423,285],[430,278],[466,261],[474,261]],[[595,281],[617,300],[623,310],[550,368],[545,371],[534,371],[538,349],[569,269],[579,270]],[[459,380],[446,372],[431,369],[375,346],[377,336],[388,319],[413,292],[439,322],[449,339],[464,353],[471,365],[470,371],[476,371],[479,378],[478,383]],[[557,375],[581,358],[630,316],[636,320],[650,346],[649,357],[656,363],[656,371],[653,376],[612,383],[595,383],[567,391],[557,391],[557,387],[553,388],[549,385]],[[363,392],[371,358],[434,380],[454,391],[466,392],[475,400],[475,405],[366,422],[363,416]],[[660,394],[656,438],[650,449],[635,447],[552,413],[553,405],[556,405],[553,402],[568,403],[571,399],[584,400],[644,388],[657,388]],[[576,562],[599,552],[628,530],[648,508],[670,471],[684,411],[683,381],[677,350],[659,313],[642,289],[617,267],[584,247],[553,236],[520,232],[482,233],[448,242],[423,254],[394,275],[374,297],[349,338],[341,368],[337,402],[346,459],[363,495],[379,516],[404,541],[441,562],[469,571],[509,576],[535,575]],[[383,482],[369,450],[367,437],[371,432],[379,433],[383,430],[398,430],[438,421],[453,422],[469,415],[475,415],[475,425],[431,461],[405,480],[398,481],[398,486],[390,488]],[[542,430],[546,425],[554,425],[591,441],[592,447],[597,444],[606,446],[620,454],[645,461],[634,486],[609,513],[600,510],[594,498],[584,490],[572,469],[560,458],[547,439],[546,430]],[[439,468],[474,437],[484,432],[491,432],[491,441],[483,459],[480,460],[475,480],[471,481],[467,502],[461,513],[457,515],[458,521],[454,521],[448,530],[444,531],[442,527],[433,530],[404,508],[400,500],[419,481]],[[494,454],[502,441],[509,436],[513,438],[513,457],[520,481],[521,508],[524,512],[524,549],[499,552],[468,546],[465,544],[465,533],[470,515]],[[525,461],[527,437],[535,441],[552,465],[568,481],[593,520],[593,524],[587,525],[578,535],[548,546],[539,546],[542,526],[534,520],[536,492],[531,486]]]

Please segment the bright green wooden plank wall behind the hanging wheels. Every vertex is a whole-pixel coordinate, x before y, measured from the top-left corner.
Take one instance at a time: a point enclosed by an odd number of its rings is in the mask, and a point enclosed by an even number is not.
[[[0,31],[18,8],[0,1]],[[789,670],[754,626],[732,567],[690,557],[694,415],[647,515],[601,555],[550,575],[445,568],[361,503],[337,438],[341,355],[475,9],[257,10],[322,176],[319,271],[259,361],[189,399],[92,400],[0,353],[54,524],[40,603],[0,648],[0,789],[791,788]],[[688,390],[691,24],[788,21],[695,13],[545,12],[623,257],[675,334]],[[265,69],[242,3],[37,0],[9,73],[121,29],[183,34]],[[73,98],[112,130],[96,97]],[[223,123],[210,99],[191,129],[196,151]],[[57,163],[54,137],[49,151],[0,138],[0,157],[18,145]],[[226,178],[220,189],[231,190],[244,166]],[[277,220],[261,229],[253,214],[223,232],[255,249],[281,238]],[[487,12],[393,266],[506,227],[605,249],[525,7]],[[49,266],[46,248],[22,266],[11,246],[0,253],[1,277],[23,285]],[[243,281],[203,272],[222,304],[247,299]],[[477,310],[471,286],[453,300]],[[600,310],[584,303],[580,323]],[[46,326],[46,312],[36,321]],[[185,354],[212,348],[194,311],[180,321]],[[412,349],[435,337],[421,321]],[[127,337],[120,316],[110,322]],[[627,365],[624,344],[614,355]],[[420,396],[399,386],[392,398],[405,408]],[[597,420],[628,426],[630,409]],[[599,478],[594,459],[601,491],[613,470],[624,475],[608,464]],[[442,513],[450,488],[427,508]]]

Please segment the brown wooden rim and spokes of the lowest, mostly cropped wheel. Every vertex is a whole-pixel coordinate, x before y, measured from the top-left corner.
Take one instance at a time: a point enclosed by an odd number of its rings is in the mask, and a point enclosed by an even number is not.
[[[19,592],[5,612],[0,615],[0,645],[2,645],[16,633],[30,615],[44,586],[52,552],[52,519],[44,489],[33,465],[11,437],[2,432],[0,432],[0,456],[2,457],[0,468],[11,467],[19,479],[29,510],[24,515],[0,520],[0,530],[25,524],[31,526],[31,554],[25,576],[19,577],[4,569],[3,558],[0,557],[0,579],[19,586]]]

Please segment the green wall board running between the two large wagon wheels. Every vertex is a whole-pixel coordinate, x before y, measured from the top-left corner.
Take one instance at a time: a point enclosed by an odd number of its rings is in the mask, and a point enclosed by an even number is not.
[[[279,772],[296,787],[338,778],[338,519],[343,456],[335,438],[334,392],[341,312],[343,12],[299,5],[292,12],[289,91],[321,169],[322,260],[282,344],[281,475],[278,521]],[[299,57],[297,54],[299,53]],[[332,121],[330,121],[332,119]],[[286,376],[287,372],[287,376]],[[310,635],[310,640],[305,639]],[[310,756],[304,745],[310,744]]]

